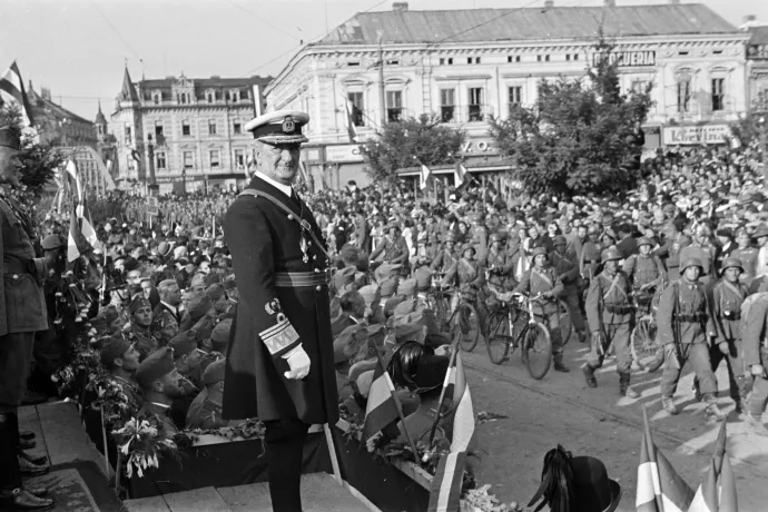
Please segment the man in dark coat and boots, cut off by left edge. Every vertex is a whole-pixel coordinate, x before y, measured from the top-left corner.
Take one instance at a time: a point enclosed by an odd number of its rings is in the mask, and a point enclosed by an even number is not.
[[[0,121],[1,122],[1,121]],[[24,488],[27,474],[47,471],[21,450],[18,407],[27,387],[35,333],[48,328],[42,283],[43,258],[36,254],[32,217],[17,201],[9,185],[18,184],[20,131],[0,125],[0,510],[45,510],[53,500]],[[39,246],[38,246],[39,247]],[[24,437],[27,445],[29,435]]]

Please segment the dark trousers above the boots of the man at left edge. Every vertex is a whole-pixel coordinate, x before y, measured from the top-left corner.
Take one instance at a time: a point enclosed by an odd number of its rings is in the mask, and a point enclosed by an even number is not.
[[[21,405],[33,348],[33,332],[0,336],[0,413],[14,413]]]

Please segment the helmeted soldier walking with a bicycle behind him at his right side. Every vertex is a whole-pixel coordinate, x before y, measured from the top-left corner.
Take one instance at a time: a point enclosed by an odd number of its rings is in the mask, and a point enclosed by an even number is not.
[[[587,385],[598,387],[594,371],[602,366],[609,346],[616,348],[619,374],[619,393],[637,398],[638,393],[630,387],[632,356],[629,348],[632,305],[632,288],[629,278],[619,268],[623,258],[619,249],[611,247],[602,253],[603,270],[592,279],[587,295],[587,318],[592,331],[592,351],[583,367]]]

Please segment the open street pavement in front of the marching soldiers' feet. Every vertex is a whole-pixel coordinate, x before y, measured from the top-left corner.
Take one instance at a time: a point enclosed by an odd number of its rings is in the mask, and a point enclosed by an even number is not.
[[[565,346],[565,363],[571,372],[552,368],[541,381],[528,375],[520,353],[503,365],[490,362],[481,339],[472,353],[463,353],[466,378],[475,413],[504,414],[477,425],[479,484],[492,484],[491,493],[509,503],[526,504],[541,481],[544,454],[563,445],[574,455],[592,455],[603,461],[608,474],[622,488],[620,511],[634,511],[637,467],[642,436],[642,406],[648,407],[653,441],[672,466],[696,490],[711,460],[720,427],[707,421],[703,404],[692,392],[693,374],[681,377],[676,394],[680,414],[670,416],[661,408],[660,372],[648,374],[633,368],[637,400],[619,395],[616,361],[609,358],[597,372],[599,387],[587,387],[581,366],[587,360],[585,344],[574,338]],[[718,372],[719,404],[729,412],[728,453],[731,457],[741,512],[768,510],[768,437],[748,431],[728,397],[725,366]]]

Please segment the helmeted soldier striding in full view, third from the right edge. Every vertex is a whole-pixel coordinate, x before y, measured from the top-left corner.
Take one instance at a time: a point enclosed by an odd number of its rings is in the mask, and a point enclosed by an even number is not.
[[[709,338],[717,336],[717,329],[699,283],[703,265],[699,258],[689,258],[680,269],[681,277],[661,294],[657,316],[658,336],[664,347],[661,404],[669,414],[679,412],[673,396],[682,368],[690,362],[707,403],[707,415],[721,420],[725,415],[717,405],[717,381],[709,360]]]

